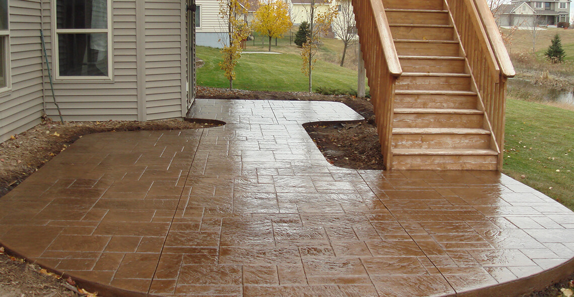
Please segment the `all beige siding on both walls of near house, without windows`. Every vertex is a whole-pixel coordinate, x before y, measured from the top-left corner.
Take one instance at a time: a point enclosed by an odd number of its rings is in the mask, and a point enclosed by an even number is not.
[[[11,88],[0,93],[0,142],[59,120],[40,39],[64,120],[153,120],[187,112],[185,0],[113,0],[111,79],[57,79],[52,64],[53,0],[10,0]],[[44,108],[45,107],[45,108]]]

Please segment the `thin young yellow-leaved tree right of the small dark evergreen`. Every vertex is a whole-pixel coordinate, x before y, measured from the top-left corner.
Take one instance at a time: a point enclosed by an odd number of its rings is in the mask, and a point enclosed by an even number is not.
[[[309,17],[309,36],[307,41],[303,44],[301,50],[301,57],[303,59],[303,66],[301,72],[309,77],[309,93],[313,92],[313,78],[312,72],[317,59],[315,54],[319,50],[321,44],[321,37],[323,37],[331,28],[333,18],[337,16],[336,7],[329,7],[323,13],[316,11],[316,5],[321,0],[311,0],[311,11]]]

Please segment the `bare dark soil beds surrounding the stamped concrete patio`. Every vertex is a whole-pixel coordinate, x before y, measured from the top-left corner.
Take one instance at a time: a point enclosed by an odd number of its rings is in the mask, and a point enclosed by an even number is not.
[[[199,87],[197,97],[342,102],[362,115],[365,120],[352,124],[311,125],[305,129],[315,140],[325,158],[333,165],[352,169],[383,169],[373,105],[369,99],[352,96],[324,96],[304,92],[255,92],[204,87]],[[179,120],[65,124],[46,120],[26,132],[14,135],[13,139],[0,143],[0,197],[83,135],[96,132],[179,130],[211,126],[214,124],[188,123]],[[40,269],[37,265],[25,264],[18,259],[0,255],[0,296],[80,296],[64,287],[65,280],[56,280],[52,276],[46,276],[40,273]],[[569,280],[571,279],[574,279],[574,274],[541,292],[533,292],[523,297],[558,296],[561,294],[561,288],[570,287],[572,282]]]

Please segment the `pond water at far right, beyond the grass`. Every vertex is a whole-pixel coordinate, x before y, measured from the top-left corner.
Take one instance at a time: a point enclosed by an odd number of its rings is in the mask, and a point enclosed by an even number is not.
[[[519,93],[527,100],[553,101],[574,105],[574,90],[565,91],[556,88],[548,88],[543,85],[534,85],[528,80],[509,79],[508,90],[510,93]]]

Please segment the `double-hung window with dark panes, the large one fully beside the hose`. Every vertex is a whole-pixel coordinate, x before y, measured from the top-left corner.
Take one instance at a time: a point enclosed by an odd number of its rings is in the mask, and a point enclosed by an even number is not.
[[[110,0],[56,0],[56,77],[111,78]]]

